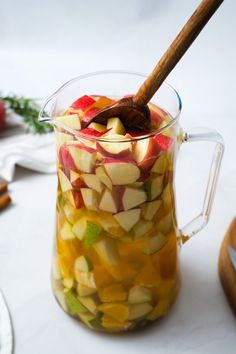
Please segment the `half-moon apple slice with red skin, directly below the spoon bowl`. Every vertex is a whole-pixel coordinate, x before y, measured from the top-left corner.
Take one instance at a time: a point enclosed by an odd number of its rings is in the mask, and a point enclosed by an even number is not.
[[[122,141],[123,135],[111,134],[109,140],[112,141],[100,141],[96,143],[97,151],[107,157],[122,158],[131,154],[132,144],[130,141]]]

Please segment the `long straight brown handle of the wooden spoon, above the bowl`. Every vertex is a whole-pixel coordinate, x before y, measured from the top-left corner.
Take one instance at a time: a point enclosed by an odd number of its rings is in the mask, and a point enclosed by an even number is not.
[[[162,82],[182,58],[223,1],[224,0],[202,0],[178,36],[159,60],[152,73],[133,97],[133,101],[136,104],[144,106],[150,101]]]

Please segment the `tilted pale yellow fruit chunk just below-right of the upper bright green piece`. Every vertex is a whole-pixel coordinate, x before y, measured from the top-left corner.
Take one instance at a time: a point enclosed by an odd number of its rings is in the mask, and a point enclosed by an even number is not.
[[[113,239],[100,240],[93,247],[104,264],[116,265],[119,262],[116,242]]]

